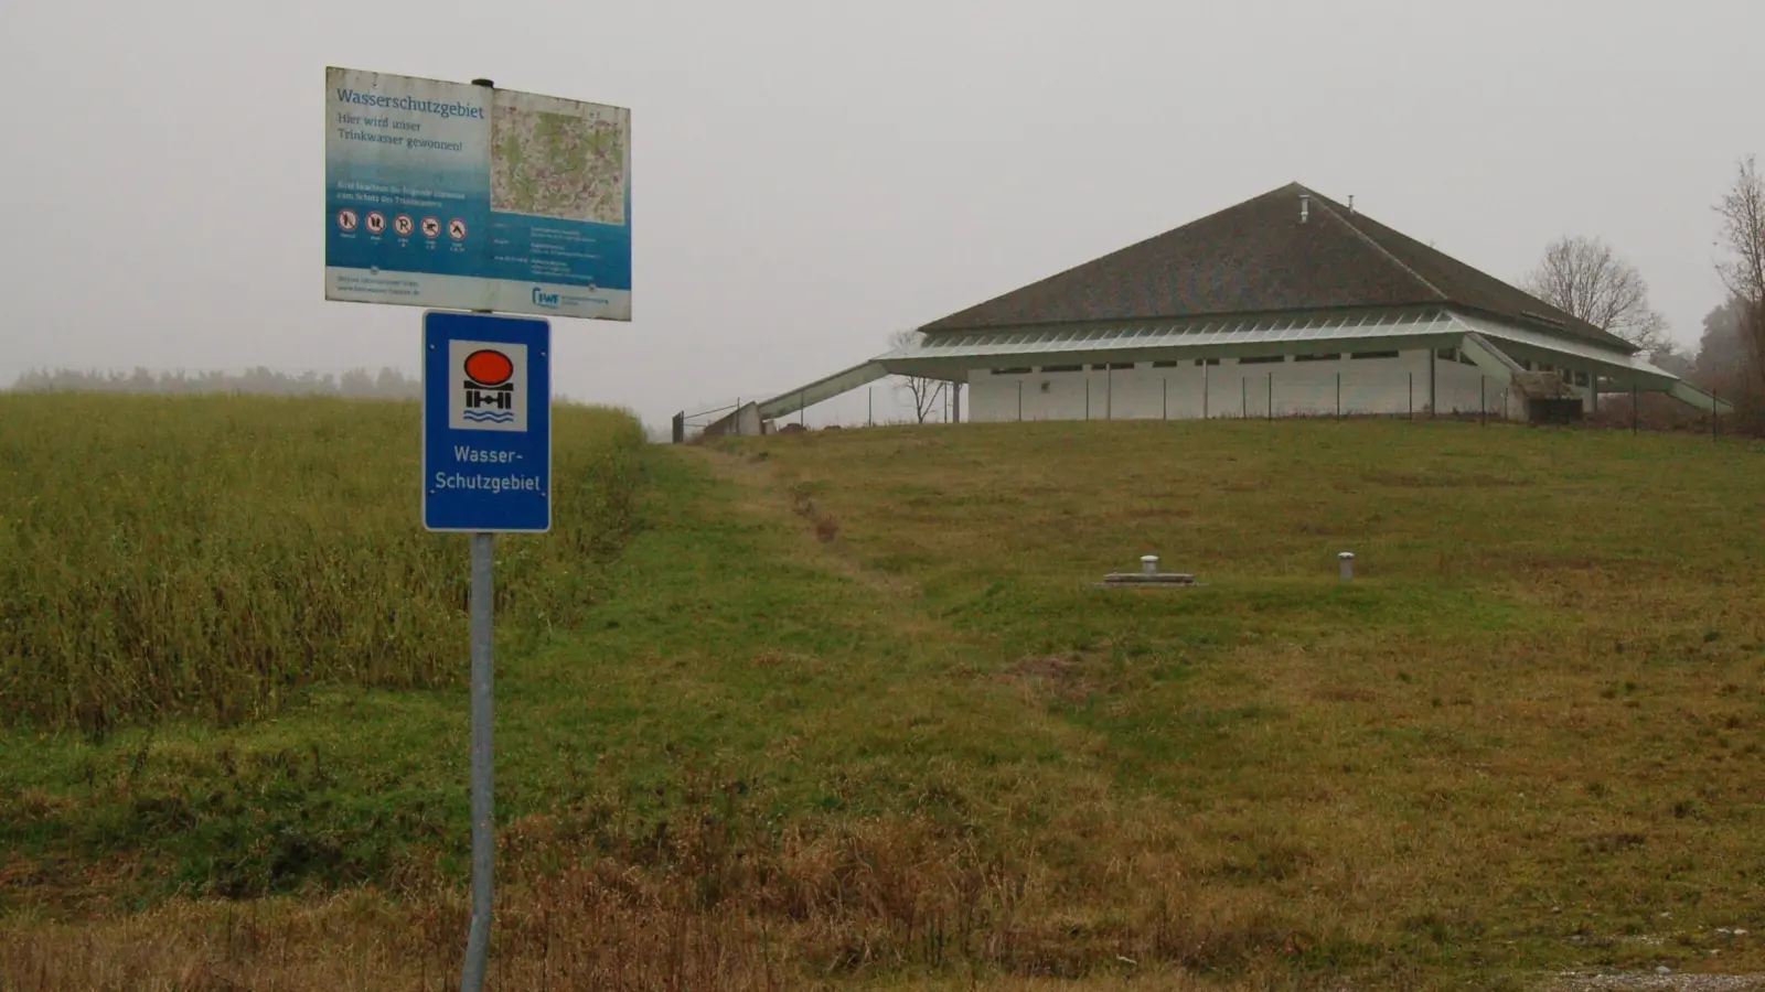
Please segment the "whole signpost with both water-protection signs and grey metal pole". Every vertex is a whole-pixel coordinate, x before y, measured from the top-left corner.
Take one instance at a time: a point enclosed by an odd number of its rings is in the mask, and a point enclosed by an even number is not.
[[[544,318],[632,319],[630,132],[627,108],[325,69],[325,298],[448,307],[424,314],[422,515],[471,535],[466,992],[491,944],[496,535],[551,530]]]

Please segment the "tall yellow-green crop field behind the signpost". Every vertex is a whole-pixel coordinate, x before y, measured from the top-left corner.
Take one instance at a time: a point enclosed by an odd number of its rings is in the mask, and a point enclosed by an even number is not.
[[[0,713],[104,734],[222,724],[319,683],[438,687],[464,635],[457,540],[413,526],[409,402],[0,395]],[[515,634],[593,600],[642,440],[561,408],[558,515],[505,540]]]

